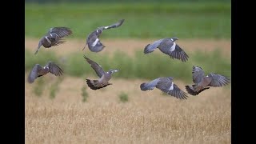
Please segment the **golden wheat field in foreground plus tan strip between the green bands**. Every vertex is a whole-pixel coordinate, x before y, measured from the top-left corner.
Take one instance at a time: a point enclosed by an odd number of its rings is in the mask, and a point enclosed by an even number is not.
[[[151,40],[128,40],[132,45],[142,47]],[[102,53],[111,53],[113,47],[122,46],[104,40],[110,45]],[[203,43],[205,50],[214,49],[214,44],[223,47],[223,53],[230,56],[230,41],[188,40],[183,42],[187,50],[195,50],[195,44]],[[194,43],[194,45],[190,45]],[[55,49],[56,54],[66,54],[72,47],[82,47],[84,42],[73,40]],[[26,38],[26,48],[35,50],[37,39]],[[126,48],[133,54],[133,48]],[[61,50],[62,49],[62,50]],[[79,50],[78,48],[76,48]],[[45,49],[42,49],[45,50]],[[62,52],[62,53],[61,53]],[[40,52],[39,52],[40,53]],[[85,64],[86,65],[86,64]],[[146,79],[110,80],[113,85],[101,90],[86,89],[88,98],[82,102],[82,87],[85,78],[63,75],[58,93],[50,98],[51,74],[44,76],[49,82],[42,96],[33,93],[34,83],[26,82],[25,74],[25,141],[34,143],[218,143],[231,142],[231,88],[230,86],[210,88],[198,96],[178,100],[162,94],[158,89],[142,91],[139,85]],[[96,75],[88,75],[96,78]],[[36,82],[35,82],[36,83]],[[187,83],[175,79],[185,90]],[[186,91],[186,90],[185,90]],[[120,102],[122,92],[128,102]]]

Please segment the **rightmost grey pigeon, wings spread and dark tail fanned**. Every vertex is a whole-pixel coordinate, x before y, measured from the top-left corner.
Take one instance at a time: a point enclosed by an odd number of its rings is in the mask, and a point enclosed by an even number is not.
[[[193,66],[192,74],[194,85],[186,86],[186,91],[191,95],[198,95],[203,90],[209,89],[210,86],[226,86],[230,83],[230,79],[221,74],[210,73],[205,76],[202,68],[199,66]]]

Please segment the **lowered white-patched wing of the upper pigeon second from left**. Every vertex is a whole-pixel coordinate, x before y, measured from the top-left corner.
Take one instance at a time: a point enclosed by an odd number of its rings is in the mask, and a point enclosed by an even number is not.
[[[90,35],[87,38],[87,44],[88,44],[90,51],[93,51],[93,52],[102,51],[103,48],[105,47],[102,44],[102,42],[100,42],[100,40],[96,34]]]

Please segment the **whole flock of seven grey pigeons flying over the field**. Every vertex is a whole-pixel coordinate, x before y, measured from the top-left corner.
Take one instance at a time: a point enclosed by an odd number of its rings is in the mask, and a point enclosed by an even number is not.
[[[97,53],[102,51],[105,47],[99,40],[99,36],[100,34],[102,34],[102,31],[122,26],[123,22],[124,19],[110,26],[98,27],[86,38],[86,46],[88,46],[89,50],[92,52]],[[67,27],[50,28],[48,33],[45,36],[43,36],[38,42],[38,49],[34,54],[38,54],[38,50],[41,46],[45,48],[50,48],[52,46],[58,46],[59,44],[64,43],[65,40],[62,38],[70,34],[72,34],[72,31],[70,30],[70,28]],[[156,48],[158,48],[162,51],[162,53],[169,55],[170,58],[176,58],[178,60],[181,60],[182,62],[186,62],[189,56],[186,54],[184,50],[182,50],[180,46],[177,45],[177,43],[175,42],[176,40],[178,40],[177,37],[159,39],[153,42],[152,44],[148,44],[144,48],[144,54],[149,54],[153,52]],[[82,50],[84,50],[86,46]],[[118,70],[104,71],[102,69],[102,66],[98,65],[97,62],[94,62],[90,58],[87,58],[86,55],[84,55],[84,58],[86,59],[86,62],[88,62],[90,66],[94,69],[94,71],[99,77],[99,79],[97,80],[86,79],[86,83],[90,87],[90,89],[98,90],[103,87],[112,85],[112,83],[109,82],[110,78],[112,74],[118,72]],[[62,69],[54,62],[48,62],[46,66],[40,66],[39,64],[36,64],[30,71],[30,74],[28,76],[28,82],[32,83],[36,78],[48,74],[49,72],[51,74],[54,74],[55,76],[60,76],[63,73]],[[228,83],[230,83],[230,79],[226,78],[221,74],[210,73],[205,76],[204,71],[199,66],[193,66],[192,74],[194,84],[191,86],[185,86],[186,91],[191,95],[198,95],[203,90],[209,89],[210,86],[226,86]],[[173,81],[174,79],[172,77],[156,78],[151,82],[142,83],[140,85],[140,88],[141,90],[146,91],[153,90],[154,87],[156,87],[159,90],[165,92],[166,94],[174,96],[175,98],[188,98],[186,92],[182,91],[177,85],[174,84]]]

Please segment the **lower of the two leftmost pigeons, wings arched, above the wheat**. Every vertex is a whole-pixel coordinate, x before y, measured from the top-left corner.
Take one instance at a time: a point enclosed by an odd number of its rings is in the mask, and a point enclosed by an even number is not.
[[[39,64],[35,64],[33,69],[30,71],[27,80],[29,83],[33,83],[36,78],[46,75],[49,72],[55,76],[60,76],[63,73],[62,69],[54,62],[48,62],[44,67]]]

